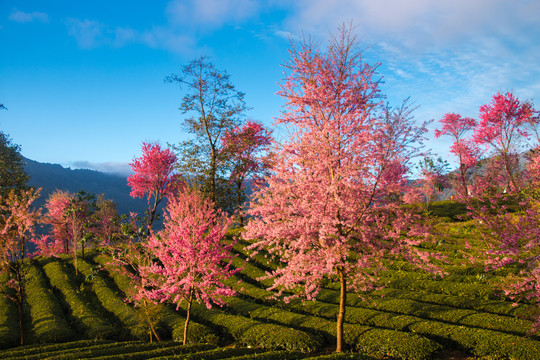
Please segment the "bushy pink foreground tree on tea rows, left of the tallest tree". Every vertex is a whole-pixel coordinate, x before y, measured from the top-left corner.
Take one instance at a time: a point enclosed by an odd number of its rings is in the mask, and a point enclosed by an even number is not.
[[[184,345],[193,301],[211,308],[213,303],[224,305],[224,298],[235,294],[223,284],[239,271],[231,269],[232,244],[223,239],[230,223],[212,201],[184,185],[169,199],[163,231],[152,234],[144,244],[157,261],[139,268],[143,286],[138,296],[170,301],[177,309],[187,304]]]

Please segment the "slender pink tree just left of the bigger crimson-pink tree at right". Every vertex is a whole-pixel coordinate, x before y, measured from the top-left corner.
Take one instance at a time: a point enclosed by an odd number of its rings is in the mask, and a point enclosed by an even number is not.
[[[480,157],[480,150],[471,139],[466,138],[466,135],[475,129],[477,122],[473,118],[462,117],[455,113],[444,115],[439,122],[442,128],[441,130],[435,130],[435,137],[439,138],[443,135],[450,136],[454,141],[450,147],[450,152],[459,160],[459,172],[457,176],[453,176],[450,179],[456,197],[458,199],[469,197],[468,172],[477,164]]]

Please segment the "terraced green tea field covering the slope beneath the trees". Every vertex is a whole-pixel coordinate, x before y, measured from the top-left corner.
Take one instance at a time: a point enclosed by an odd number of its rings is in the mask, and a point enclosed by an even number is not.
[[[472,246],[480,241],[474,235],[474,225],[448,221],[455,215],[449,206],[440,205],[437,211],[445,216],[445,221],[438,224],[439,232],[444,235],[430,250],[447,256],[449,264],[444,268],[449,274],[434,278],[407,263],[390,266],[382,277],[386,283],[384,289],[348,297],[348,346],[375,357],[403,359],[436,358],[438,354],[454,349],[470,356],[540,359],[540,338],[528,334],[529,318],[535,308],[526,303],[516,307],[496,296],[496,285],[508,271],[486,274],[482,269],[464,264],[461,252],[465,239]],[[335,284],[327,284],[317,302],[285,304],[268,299],[271,294],[265,289],[270,282],[259,278],[275,264],[262,255],[243,264],[244,246],[239,243],[235,247],[239,254],[235,265],[243,266],[243,270],[230,282],[239,296],[231,299],[230,306],[224,309],[207,310],[204,306],[196,306],[190,342],[214,344],[211,346],[236,344],[251,349],[262,347],[265,351],[257,357],[270,359],[308,356],[299,351],[311,352],[313,357],[313,354],[330,349],[335,341],[339,300]],[[31,353],[36,349],[41,353],[51,351],[52,358],[70,358],[70,351],[80,353],[83,348],[97,357],[99,351],[107,353],[106,346],[121,348],[122,345],[112,343],[113,340],[145,339],[147,332],[141,325],[141,319],[144,319],[141,309],[124,301],[129,281],[119,273],[98,270],[106,261],[106,256],[94,252],[86,261],[79,261],[79,274],[76,275],[69,257],[34,260],[30,267],[32,278],[25,331],[27,338],[36,345],[0,351],[0,358],[32,358]],[[240,279],[243,283],[238,284]],[[183,309],[160,307],[155,315],[160,334],[165,339],[180,338]],[[7,300],[0,299],[2,348],[15,346],[17,342],[13,310]],[[60,344],[72,340],[79,342]],[[81,342],[83,340],[101,342],[90,346]],[[52,346],[50,350],[37,347],[53,342],[59,345],[47,345]],[[76,350],[66,350],[69,344]],[[131,354],[127,358],[187,356],[180,355],[183,350],[177,349],[174,343],[167,344],[155,348],[132,342],[126,343],[124,350],[115,351],[124,357]],[[190,351],[207,358],[257,358],[247,348],[217,351],[194,347]],[[113,356],[112,353],[109,355]]]

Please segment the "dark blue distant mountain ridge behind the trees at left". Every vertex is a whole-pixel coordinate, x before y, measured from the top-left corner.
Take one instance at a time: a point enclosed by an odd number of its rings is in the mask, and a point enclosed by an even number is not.
[[[24,158],[25,170],[30,176],[30,186],[41,187],[41,196],[36,205],[43,206],[45,200],[56,189],[77,193],[84,190],[92,194],[104,194],[117,204],[118,213],[130,211],[144,215],[146,199],[133,199],[127,178],[121,175],[87,169],[67,169],[58,164],[40,163]]]

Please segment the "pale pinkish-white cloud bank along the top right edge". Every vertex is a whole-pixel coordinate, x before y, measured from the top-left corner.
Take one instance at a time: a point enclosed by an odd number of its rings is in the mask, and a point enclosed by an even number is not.
[[[389,41],[402,50],[425,51],[471,37],[514,36],[538,30],[538,1],[506,0],[298,0],[288,31],[325,36],[352,21],[366,41]],[[532,35],[529,35],[532,36]]]

